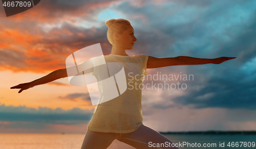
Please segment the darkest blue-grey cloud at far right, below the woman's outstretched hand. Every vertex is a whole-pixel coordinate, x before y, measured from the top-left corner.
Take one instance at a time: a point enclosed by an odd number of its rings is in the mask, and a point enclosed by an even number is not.
[[[249,78],[253,73],[246,74],[239,69],[216,70],[214,73],[207,77],[208,81],[201,82],[201,89],[191,89],[187,95],[177,97],[174,101],[182,105],[194,105],[195,108],[256,109],[256,78]],[[193,88],[197,84],[193,82],[189,86]]]

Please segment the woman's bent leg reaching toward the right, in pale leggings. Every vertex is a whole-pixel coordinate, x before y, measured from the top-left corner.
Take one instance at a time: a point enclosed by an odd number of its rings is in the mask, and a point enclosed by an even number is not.
[[[121,138],[117,139],[120,142],[129,144],[137,149],[144,148],[176,148],[172,147],[173,142],[160,134],[159,132],[141,125],[136,131],[132,133],[121,134]],[[149,143],[152,142],[152,143]],[[165,143],[166,142],[166,143]],[[153,144],[155,143],[155,144]],[[162,146],[157,147],[157,143],[163,143]],[[168,145],[166,145],[168,144]],[[169,145],[170,144],[170,145]],[[156,147],[154,147],[154,146]],[[161,144],[160,144],[161,145]],[[170,147],[169,147],[170,146]],[[175,146],[175,145],[173,145]]]

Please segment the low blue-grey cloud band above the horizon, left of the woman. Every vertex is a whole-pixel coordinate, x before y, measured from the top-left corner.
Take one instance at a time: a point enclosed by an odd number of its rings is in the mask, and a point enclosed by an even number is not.
[[[0,121],[27,121],[55,123],[62,125],[74,125],[92,118],[92,110],[73,108],[63,110],[61,108],[27,108],[25,106],[13,107],[0,105]]]

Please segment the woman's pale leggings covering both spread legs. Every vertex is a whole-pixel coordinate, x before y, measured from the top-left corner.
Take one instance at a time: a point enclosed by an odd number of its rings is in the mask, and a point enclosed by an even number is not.
[[[144,149],[144,148],[176,148],[179,147],[172,147],[173,142],[170,141],[168,138],[160,134],[159,132],[141,125],[136,131],[132,133],[101,133],[101,132],[93,132],[87,130],[86,136],[84,137],[81,149],[105,149],[108,148],[111,143],[117,139],[120,142],[126,143],[131,145],[137,149]],[[152,143],[148,143],[152,142]],[[169,142],[168,147],[165,147]],[[163,143],[161,147],[153,147],[153,143],[155,145],[157,143]],[[154,145],[154,146],[155,146]],[[150,147],[151,146],[151,147]],[[170,147],[169,147],[170,146]],[[174,146],[174,145],[173,145]]]

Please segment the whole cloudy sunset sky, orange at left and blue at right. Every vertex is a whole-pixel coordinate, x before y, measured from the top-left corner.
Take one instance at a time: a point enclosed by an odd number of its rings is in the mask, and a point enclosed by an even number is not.
[[[66,68],[73,52],[100,43],[111,53],[105,22],[131,22],[137,41],[128,55],[156,58],[237,57],[221,64],[147,69],[144,80],[183,89],[142,89],[143,124],[160,132],[256,130],[256,1],[41,1],[6,17],[0,7],[0,133],[85,133],[95,106],[86,87],[68,78],[22,93],[10,87]],[[157,86],[157,85],[156,85]],[[185,88],[185,89],[184,89]]]

